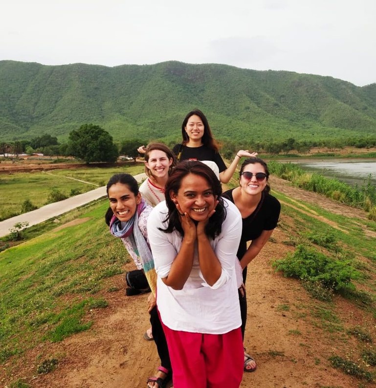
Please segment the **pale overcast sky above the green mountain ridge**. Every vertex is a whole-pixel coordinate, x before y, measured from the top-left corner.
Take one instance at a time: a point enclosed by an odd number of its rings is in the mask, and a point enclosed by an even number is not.
[[[376,0],[3,0],[0,15],[0,60],[177,60],[376,82]]]

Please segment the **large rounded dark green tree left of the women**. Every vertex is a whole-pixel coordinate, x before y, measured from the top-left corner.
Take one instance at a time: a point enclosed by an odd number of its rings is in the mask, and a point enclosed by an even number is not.
[[[118,151],[112,142],[112,136],[99,125],[84,124],[69,134],[69,154],[85,160],[114,162]]]

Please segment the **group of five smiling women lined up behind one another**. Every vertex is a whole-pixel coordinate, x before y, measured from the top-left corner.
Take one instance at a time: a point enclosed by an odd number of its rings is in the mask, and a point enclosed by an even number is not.
[[[161,143],[139,148],[148,175],[139,189],[129,174],[111,177],[110,231],[152,290],[161,365],[147,386],[172,378],[175,388],[238,388],[243,371],[256,368],[243,349],[246,268],[276,227],[280,204],[256,153],[240,150],[226,168],[202,112],[187,114],[182,137],[173,152]],[[222,193],[242,157],[240,185]]]

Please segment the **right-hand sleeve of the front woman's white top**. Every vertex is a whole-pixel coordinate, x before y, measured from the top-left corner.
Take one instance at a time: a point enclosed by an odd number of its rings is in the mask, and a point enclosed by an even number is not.
[[[227,204],[226,219],[222,224],[222,231],[216,247],[214,248],[214,252],[221,263],[221,276],[212,286],[207,284],[205,281],[202,283],[204,287],[211,287],[214,290],[226,284],[230,280],[231,276],[236,275],[239,270],[239,266],[237,265],[238,263],[236,263],[237,261],[239,262],[236,252],[238,251],[242,236],[242,216],[234,204],[229,201],[227,201]],[[204,280],[201,272],[199,275],[201,279]]]

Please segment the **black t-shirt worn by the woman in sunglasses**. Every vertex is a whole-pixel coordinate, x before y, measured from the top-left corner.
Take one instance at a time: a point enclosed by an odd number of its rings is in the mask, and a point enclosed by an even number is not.
[[[232,192],[234,189],[225,191],[222,196],[234,202]],[[255,211],[243,220],[242,238],[238,249],[238,259],[241,260],[244,253],[247,251],[247,241],[254,240],[259,237],[263,230],[273,230],[276,228],[279,214],[281,212],[281,204],[277,198],[270,194],[263,193],[263,197],[257,205]]]

